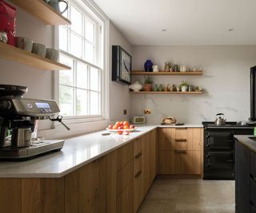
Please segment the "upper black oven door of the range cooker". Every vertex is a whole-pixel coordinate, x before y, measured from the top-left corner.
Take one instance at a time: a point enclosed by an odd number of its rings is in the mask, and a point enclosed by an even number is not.
[[[234,148],[234,134],[231,131],[208,131],[205,134],[204,146],[206,149],[233,149]]]

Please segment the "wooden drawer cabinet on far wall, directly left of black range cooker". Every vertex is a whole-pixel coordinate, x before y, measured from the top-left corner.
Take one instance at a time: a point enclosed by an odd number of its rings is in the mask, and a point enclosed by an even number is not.
[[[158,138],[159,174],[201,174],[202,128],[160,128]]]

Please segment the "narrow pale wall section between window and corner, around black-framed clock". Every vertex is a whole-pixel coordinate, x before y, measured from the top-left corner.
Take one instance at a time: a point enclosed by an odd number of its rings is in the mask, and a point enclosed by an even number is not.
[[[121,45],[127,53],[131,54],[129,41],[110,23],[110,78],[112,71],[112,45]],[[127,115],[123,114],[127,109]],[[130,93],[127,85],[110,81],[110,120],[126,120],[130,117]]]

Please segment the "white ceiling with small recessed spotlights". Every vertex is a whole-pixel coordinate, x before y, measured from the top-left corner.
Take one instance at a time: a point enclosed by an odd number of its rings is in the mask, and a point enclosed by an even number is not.
[[[255,0],[94,2],[132,45],[256,45]]]

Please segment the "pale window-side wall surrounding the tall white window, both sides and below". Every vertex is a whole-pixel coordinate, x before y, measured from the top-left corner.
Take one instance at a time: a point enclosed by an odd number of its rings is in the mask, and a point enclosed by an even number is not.
[[[24,10],[15,6],[17,10],[17,36],[30,37],[33,41],[51,47],[54,45],[54,26],[46,26],[34,16],[27,14]],[[120,34],[120,32],[110,24],[110,47],[111,45],[122,45],[128,53],[131,52],[131,45]],[[111,49],[111,48],[110,48]],[[110,50],[111,56],[111,50]],[[111,65],[110,57],[110,65]],[[111,73],[111,68],[109,69]],[[130,112],[130,95],[128,87],[110,82],[110,120],[126,119],[129,115],[123,116],[123,108]],[[52,71],[39,70],[27,65],[22,65],[14,61],[0,59],[0,84],[6,85],[26,85],[29,92],[24,97],[38,99],[54,98],[54,73]],[[59,127],[51,129],[50,120],[39,121],[40,136],[47,138],[66,138],[68,136],[80,135],[86,132],[93,132],[106,127],[106,123],[88,123],[83,127],[71,126],[71,131]]]

